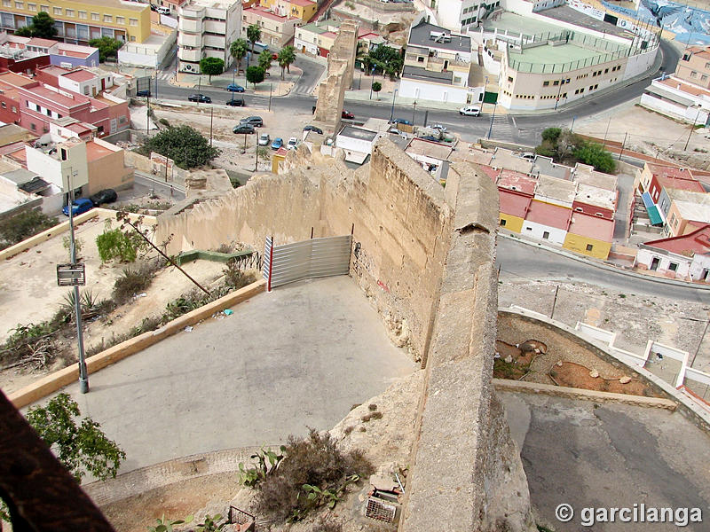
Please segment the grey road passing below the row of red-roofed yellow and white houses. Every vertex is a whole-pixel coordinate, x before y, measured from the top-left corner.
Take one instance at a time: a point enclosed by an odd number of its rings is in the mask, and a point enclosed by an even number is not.
[[[510,239],[498,239],[496,262],[501,267],[501,279],[580,281],[627,293],[710,303],[707,290],[628,276]]]

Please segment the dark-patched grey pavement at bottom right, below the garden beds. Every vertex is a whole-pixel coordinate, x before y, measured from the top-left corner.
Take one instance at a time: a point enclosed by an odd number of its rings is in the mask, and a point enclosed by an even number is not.
[[[499,396],[521,449],[538,523],[565,532],[676,529],[669,522],[619,522],[619,516],[613,523],[582,526],[584,508],[644,504],[700,508],[703,522],[677,529],[708,529],[710,434],[679,412],[546,395]],[[570,522],[556,519],[561,504],[572,505]]]

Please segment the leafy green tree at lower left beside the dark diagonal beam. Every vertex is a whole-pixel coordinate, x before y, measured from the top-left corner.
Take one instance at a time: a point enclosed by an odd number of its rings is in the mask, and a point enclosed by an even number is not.
[[[59,394],[44,407],[30,408],[26,418],[76,481],[86,473],[102,481],[115,478],[126,453],[93,419],[84,418],[77,426],[74,418],[80,415],[79,405],[69,395]]]

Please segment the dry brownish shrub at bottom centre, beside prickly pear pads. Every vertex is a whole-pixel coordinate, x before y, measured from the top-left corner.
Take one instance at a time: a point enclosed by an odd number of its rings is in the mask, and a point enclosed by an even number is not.
[[[284,455],[276,472],[259,483],[256,496],[256,511],[276,520],[298,520],[312,507],[304,484],[342,497],[352,475],[375,471],[362,451],[342,452],[330,434],[314,429],[303,439],[289,436]]]

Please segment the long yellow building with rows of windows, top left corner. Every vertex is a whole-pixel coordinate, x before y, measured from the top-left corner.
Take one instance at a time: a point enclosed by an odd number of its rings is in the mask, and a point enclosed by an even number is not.
[[[46,12],[56,20],[58,39],[88,44],[91,39],[113,37],[143,43],[150,36],[150,6],[120,0],[0,0],[2,28],[14,31]]]

